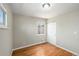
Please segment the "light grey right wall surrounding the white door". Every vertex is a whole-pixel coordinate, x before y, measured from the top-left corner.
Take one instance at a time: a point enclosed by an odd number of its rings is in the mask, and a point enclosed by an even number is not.
[[[51,22],[56,22],[56,44],[79,55],[79,11],[51,18]]]

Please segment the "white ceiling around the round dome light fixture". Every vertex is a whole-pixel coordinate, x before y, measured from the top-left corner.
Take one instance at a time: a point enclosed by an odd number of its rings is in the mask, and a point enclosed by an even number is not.
[[[79,9],[78,3],[52,3],[48,9],[43,8],[42,3],[11,3],[9,5],[14,14],[40,18],[51,18]]]

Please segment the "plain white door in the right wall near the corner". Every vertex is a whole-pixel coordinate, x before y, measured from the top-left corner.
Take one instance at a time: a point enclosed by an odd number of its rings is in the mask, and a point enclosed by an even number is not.
[[[47,40],[52,44],[56,44],[56,22],[47,24]]]

